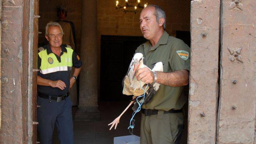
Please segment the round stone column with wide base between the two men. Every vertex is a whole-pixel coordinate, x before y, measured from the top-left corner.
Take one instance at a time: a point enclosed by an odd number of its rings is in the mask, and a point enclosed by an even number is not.
[[[99,120],[97,93],[97,1],[82,1],[79,105],[75,120]]]

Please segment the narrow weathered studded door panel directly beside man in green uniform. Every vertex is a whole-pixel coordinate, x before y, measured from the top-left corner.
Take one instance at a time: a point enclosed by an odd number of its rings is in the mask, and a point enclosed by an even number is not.
[[[219,13],[220,0],[191,1],[189,144],[216,143]]]

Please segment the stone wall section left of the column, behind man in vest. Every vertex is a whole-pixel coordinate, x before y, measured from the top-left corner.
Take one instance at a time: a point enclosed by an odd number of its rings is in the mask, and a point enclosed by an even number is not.
[[[39,34],[38,43],[47,41],[45,39],[45,26],[50,21],[58,20],[57,6],[67,6],[66,20],[72,21],[75,26],[77,49],[80,49],[81,42],[81,2],[82,0],[42,0],[39,2]],[[78,51],[79,52],[79,51]]]

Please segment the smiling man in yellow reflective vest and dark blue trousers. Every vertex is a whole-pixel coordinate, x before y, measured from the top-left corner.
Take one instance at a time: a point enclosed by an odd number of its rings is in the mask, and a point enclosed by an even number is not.
[[[41,144],[51,144],[54,126],[61,144],[74,144],[72,102],[68,89],[75,83],[82,62],[69,45],[62,44],[63,30],[56,22],[45,27],[48,44],[38,48],[38,131]],[[70,77],[71,67],[74,74]]]

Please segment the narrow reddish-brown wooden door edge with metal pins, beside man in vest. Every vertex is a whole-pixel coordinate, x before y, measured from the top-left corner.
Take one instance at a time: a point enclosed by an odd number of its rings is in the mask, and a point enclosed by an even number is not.
[[[28,88],[28,134],[29,143],[37,143],[37,49],[39,0],[30,0],[30,47],[29,47],[29,88]],[[32,129],[31,129],[32,128]]]

